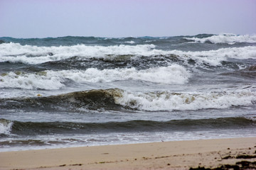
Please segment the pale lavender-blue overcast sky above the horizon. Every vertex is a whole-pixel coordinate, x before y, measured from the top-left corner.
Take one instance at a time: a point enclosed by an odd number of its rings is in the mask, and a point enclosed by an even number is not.
[[[0,0],[0,37],[255,35],[256,0]]]

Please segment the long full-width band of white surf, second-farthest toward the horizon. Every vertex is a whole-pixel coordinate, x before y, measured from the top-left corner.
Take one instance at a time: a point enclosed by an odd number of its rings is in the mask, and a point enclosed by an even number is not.
[[[196,64],[221,65],[221,62],[229,58],[255,59],[256,47],[230,47],[218,50],[185,52],[180,50],[157,50],[155,45],[114,45],[114,46],[59,46],[37,47],[20,45],[18,43],[4,43],[0,45],[0,62],[43,64],[61,60],[104,60],[107,62],[127,62],[142,60],[142,57],[156,58],[159,55],[166,56],[170,64],[169,56],[176,56],[184,62],[193,60]]]

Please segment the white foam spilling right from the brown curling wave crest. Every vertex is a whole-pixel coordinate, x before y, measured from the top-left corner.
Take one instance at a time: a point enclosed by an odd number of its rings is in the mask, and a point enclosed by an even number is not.
[[[181,93],[169,91],[141,93],[123,91],[122,97],[115,96],[115,102],[122,106],[143,111],[196,111],[207,108],[229,108],[231,106],[250,106],[256,101],[252,91]]]

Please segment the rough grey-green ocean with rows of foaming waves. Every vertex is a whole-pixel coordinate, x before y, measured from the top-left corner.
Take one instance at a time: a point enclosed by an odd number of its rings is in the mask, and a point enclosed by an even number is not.
[[[256,137],[256,35],[0,38],[0,152]]]

